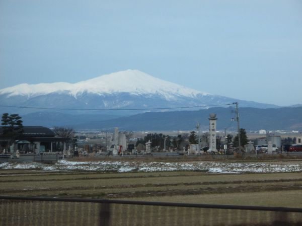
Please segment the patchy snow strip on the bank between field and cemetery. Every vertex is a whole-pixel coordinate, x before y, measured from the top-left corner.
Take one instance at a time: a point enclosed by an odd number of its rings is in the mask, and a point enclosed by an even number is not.
[[[1,163],[0,169],[37,169],[45,171],[115,171],[115,172],[161,172],[161,171],[207,171],[210,173],[278,173],[302,172],[302,163],[220,163],[220,162],[71,162],[59,160],[54,165],[42,163]]]

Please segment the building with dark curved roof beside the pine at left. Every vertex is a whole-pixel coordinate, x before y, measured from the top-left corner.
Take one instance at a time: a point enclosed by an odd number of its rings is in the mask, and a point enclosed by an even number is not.
[[[6,148],[12,140],[12,137],[5,135],[3,131],[3,127],[0,127],[0,149]],[[67,139],[56,136],[51,129],[44,126],[24,126],[23,132],[13,140],[10,145],[11,152],[18,149],[21,154],[39,154],[65,151]]]

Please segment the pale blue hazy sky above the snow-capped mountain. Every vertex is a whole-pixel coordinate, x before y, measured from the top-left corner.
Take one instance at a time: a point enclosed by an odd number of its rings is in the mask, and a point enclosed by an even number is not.
[[[125,69],[302,104],[302,1],[0,0],[0,89]]]

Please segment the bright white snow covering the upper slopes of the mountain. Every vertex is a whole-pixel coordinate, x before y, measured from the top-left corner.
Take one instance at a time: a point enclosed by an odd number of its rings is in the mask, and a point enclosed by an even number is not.
[[[163,96],[167,100],[177,96],[194,98],[197,95],[209,95],[204,92],[160,80],[139,70],[125,70],[105,74],[104,76],[75,84],[20,84],[0,90],[0,95],[7,94],[8,97],[21,95],[30,98],[50,93],[65,93],[77,97],[86,92],[98,95],[115,93],[130,93],[132,95],[156,94]]]

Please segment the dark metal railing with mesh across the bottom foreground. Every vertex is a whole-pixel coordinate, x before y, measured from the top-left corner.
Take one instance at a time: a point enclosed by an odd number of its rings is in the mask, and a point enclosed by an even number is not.
[[[0,225],[298,226],[302,208],[0,196]]]

